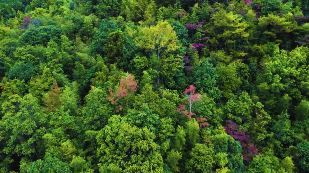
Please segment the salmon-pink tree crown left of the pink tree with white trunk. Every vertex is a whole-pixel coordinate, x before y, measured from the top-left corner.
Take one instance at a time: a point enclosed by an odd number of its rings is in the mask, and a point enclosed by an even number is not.
[[[137,88],[138,83],[135,82],[132,75],[129,74],[127,77],[120,79],[119,86],[116,88],[115,92],[112,91],[112,88],[108,89],[110,93],[108,100],[112,104],[120,104],[116,107],[116,111],[121,110],[124,107],[125,99],[135,93]]]

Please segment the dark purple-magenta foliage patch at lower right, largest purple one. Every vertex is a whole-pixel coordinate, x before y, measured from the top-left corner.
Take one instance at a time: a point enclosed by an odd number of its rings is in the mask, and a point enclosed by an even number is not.
[[[227,124],[224,126],[226,133],[231,135],[235,140],[239,141],[241,147],[243,148],[243,160],[249,161],[249,157],[259,155],[257,148],[251,142],[251,137],[246,135],[246,130],[238,131],[239,125],[231,120],[226,122]]]

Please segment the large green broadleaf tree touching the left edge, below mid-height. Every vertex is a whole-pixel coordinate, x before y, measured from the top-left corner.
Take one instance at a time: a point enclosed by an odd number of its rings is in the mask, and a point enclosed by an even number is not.
[[[2,152],[40,159],[37,143],[46,132],[43,126],[46,125],[47,115],[31,94],[19,100],[15,98],[14,102],[19,104],[17,112],[6,112],[0,121],[1,131],[5,132],[0,133],[0,137],[7,141]]]

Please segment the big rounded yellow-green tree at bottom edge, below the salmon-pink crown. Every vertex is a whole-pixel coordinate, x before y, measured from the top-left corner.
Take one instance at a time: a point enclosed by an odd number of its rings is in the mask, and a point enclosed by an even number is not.
[[[163,159],[155,135],[147,127],[128,124],[119,115],[108,119],[108,125],[97,135],[97,156],[102,170],[115,167],[127,172],[162,172]]]

